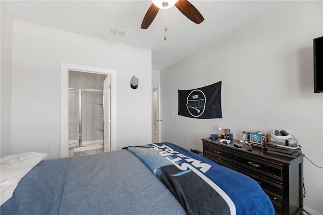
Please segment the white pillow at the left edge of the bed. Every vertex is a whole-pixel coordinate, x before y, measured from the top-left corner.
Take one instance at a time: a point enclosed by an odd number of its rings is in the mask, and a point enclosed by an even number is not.
[[[44,153],[26,152],[0,158],[0,205],[12,197],[19,181],[46,157]]]

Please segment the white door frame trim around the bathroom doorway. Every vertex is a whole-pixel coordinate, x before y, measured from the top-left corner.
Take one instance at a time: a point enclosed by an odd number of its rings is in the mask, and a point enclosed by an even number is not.
[[[117,70],[61,63],[61,147],[60,157],[68,157],[69,113],[68,88],[69,71],[110,75],[111,77],[111,150],[117,150]]]

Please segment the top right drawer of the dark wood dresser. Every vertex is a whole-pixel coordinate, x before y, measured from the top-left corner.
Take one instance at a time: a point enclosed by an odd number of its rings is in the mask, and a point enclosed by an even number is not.
[[[234,153],[235,169],[240,168],[247,173],[267,180],[282,183],[282,164],[255,156],[248,156],[239,152]]]

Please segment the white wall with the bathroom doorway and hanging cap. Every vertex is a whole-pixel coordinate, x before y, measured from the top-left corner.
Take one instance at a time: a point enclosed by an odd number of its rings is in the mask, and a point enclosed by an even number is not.
[[[17,20],[12,49],[12,153],[59,157],[61,63],[117,70],[118,149],[151,141],[150,50]]]

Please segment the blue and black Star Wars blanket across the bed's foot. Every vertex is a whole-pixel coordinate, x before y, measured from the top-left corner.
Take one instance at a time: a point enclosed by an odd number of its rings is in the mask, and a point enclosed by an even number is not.
[[[128,147],[181,202],[188,214],[275,214],[248,176],[172,143]]]

